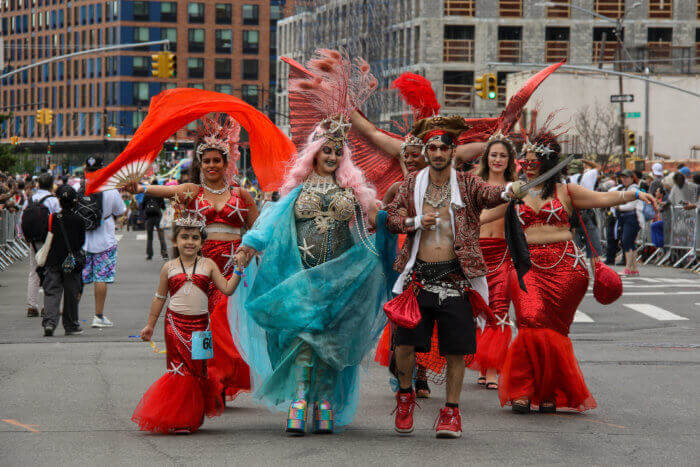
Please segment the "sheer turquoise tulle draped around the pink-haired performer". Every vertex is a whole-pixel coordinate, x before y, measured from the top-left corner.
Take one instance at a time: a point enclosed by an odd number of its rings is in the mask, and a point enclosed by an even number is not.
[[[263,212],[242,240],[263,252],[245,271],[247,287],[229,300],[237,348],[251,367],[253,396],[286,411],[299,386],[300,365],[311,367],[307,400],[331,402],[338,426],[352,422],[358,405],[359,367],[372,350],[391,294],[395,236],[385,228],[363,235],[331,261],[304,269],[296,238],[294,202],[300,188]]]

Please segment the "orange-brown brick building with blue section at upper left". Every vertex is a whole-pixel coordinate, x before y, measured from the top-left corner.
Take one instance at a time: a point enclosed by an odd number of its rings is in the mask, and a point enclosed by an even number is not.
[[[0,142],[17,136],[32,152],[114,154],[146,115],[152,96],[193,87],[241,97],[274,112],[276,22],[284,1],[1,0],[4,72],[71,52],[167,39],[172,78],[151,74],[151,45],[61,59],[0,82]],[[51,125],[36,110],[53,111]],[[108,134],[107,128],[116,128]],[[174,137],[186,140],[186,131]]]

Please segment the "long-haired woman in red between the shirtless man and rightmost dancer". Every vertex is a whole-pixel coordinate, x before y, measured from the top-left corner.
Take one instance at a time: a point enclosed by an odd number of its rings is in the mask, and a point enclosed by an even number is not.
[[[515,181],[515,148],[508,136],[498,131],[489,138],[477,173],[489,185],[505,186]],[[485,323],[483,330],[477,329],[476,355],[469,368],[479,372],[477,382],[486,389],[498,389],[498,372],[511,339],[507,284],[510,255],[505,240],[505,208],[506,205],[501,205],[486,209],[480,216],[479,246],[487,268],[489,307],[496,319]]]

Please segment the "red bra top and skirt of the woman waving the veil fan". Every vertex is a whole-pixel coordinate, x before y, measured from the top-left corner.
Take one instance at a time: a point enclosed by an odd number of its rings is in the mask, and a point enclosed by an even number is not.
[[[229,200],[220,211],[217,211],[204,197],[204,188],[200,187],[197,196],[191,201],[190,209],[199,211],[205,217],[207,225],[226,224],[234,229],[243,229],[248,206],[238,194],[238,189],[231,189],[230,192]],[[206,240],[202,247],[202,254],[211,258],[226,279],[229,279],[233,274],[233,254],[240,243],[240,240]],[[209,360],[209,373],[212,377],[219,378],[226,391],[226,399],[231,401],[241,392],[250,392],[251,384],[250,368],[233,344],[231,328],[228,324],[227,305],[228,297],[222,294],[214,284],[210,284],[209,313],[214,358]]]

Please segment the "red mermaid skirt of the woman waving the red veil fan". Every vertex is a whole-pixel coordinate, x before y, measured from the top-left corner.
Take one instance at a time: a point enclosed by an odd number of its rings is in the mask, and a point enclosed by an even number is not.
[[[219,269],[230,278],[232,268],[226,269],[228,256],[240,245],[240,240],[226,242],[207,240],[204,242],[202,254],[211,258]],[[218,379],[224,387],[226,400],[231,401],[241,392],[250,392],[250,368],[238,353],[233,344],[231,328],[228,323],[228,297],[212,283],[209,286],[209,313],[211,314],[211,331],[214,347],[214,358],[209,360],[209,374]]]

